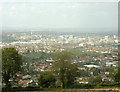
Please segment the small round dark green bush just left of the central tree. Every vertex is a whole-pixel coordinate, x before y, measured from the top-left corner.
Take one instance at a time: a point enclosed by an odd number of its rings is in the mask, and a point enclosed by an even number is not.
[[[55,87],[55,75],[51,71],[45,71],[38,77],[38,85],[42,88]]]

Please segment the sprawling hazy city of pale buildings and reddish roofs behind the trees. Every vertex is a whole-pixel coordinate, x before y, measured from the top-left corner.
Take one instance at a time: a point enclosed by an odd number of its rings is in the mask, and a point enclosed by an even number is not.
[[[78,78],[80,83],[88,83],[90,76],[96,76],[92,71],[93,68],[102,70],[98,72],[98,75],[101,75],[103,80],[110,80],[107,77],[109,71],[106,68],[118,66],[118,36],[116,35],[66,33],[46,35],[23,32],[6,34],[6,37],[13,40],[0,43],[0,47],[15,47],[23,56],[33,52],[51,54],[64,50],[75,53],[72,62],[78,65],[79,70],[90,71],[88,76]],[[45,59],[31,59],[25,62],[23,66],[27,67],[27,73],[17,74],[18,77],[21,76],[18,84],[23,87],[31,83],[38,85],[36,80],[38,73],[50,70],[53,62],[49,56]]]

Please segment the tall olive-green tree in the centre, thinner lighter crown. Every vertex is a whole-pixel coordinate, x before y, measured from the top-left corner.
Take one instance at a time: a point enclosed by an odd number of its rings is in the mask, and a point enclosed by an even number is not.
[[[69,52],[55,53],[53,60],[55,62],[52,65],[52,70],[57,79],[61,81],[62,88],[72,86],[77,77],[78,68],[72,63],[71,54]]]

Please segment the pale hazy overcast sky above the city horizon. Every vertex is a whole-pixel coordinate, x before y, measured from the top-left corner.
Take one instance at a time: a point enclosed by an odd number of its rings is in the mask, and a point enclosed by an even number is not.
[[[8,28],[117,28],[117,3],[4,3]]]

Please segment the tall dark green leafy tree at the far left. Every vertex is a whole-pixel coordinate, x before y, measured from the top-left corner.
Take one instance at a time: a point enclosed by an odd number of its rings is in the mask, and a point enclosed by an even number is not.
[[[2,76],[6,87],[10,87],[10,79],[16,78],[16,73],[21,71],[22,55],[15,48],[2,49]]]

